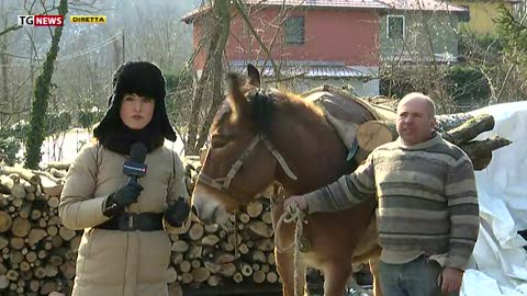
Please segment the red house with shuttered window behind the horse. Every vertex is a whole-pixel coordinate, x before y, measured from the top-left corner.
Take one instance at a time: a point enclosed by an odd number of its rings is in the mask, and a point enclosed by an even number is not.
[[[261,39],[270,49],[289,87],[302,92],[324,83],[352,86],[360,95],[379,92],[379,14],[385,5],[374,0],[289,0],[283,18],[277,18],[283,0],[248,0],[249,18]],[[260,4],[259,4],[260,3]],[[205,9],[194,10],[182,18],[192,23],[194,46],[201,39],[200,16]],[[262,69],[271,79],[273,70],[265,52],[247,33],[243,18],[233,10],[226,58],[231,70],[244,71],[247,62]],[[274,38],[274,35],[277,34]],[[197,47],[195,47],[197,48]],[[198,71],[204,55],[194,59]]]

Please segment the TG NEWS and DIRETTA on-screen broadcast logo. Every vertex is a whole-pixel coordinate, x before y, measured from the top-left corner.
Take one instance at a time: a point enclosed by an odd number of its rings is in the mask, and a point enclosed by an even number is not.
[[[64,15],[18,15],[19,25],[30,26],[63,26]],[[74,24],[103,24],[106,15],[70,15],[69,22]]]

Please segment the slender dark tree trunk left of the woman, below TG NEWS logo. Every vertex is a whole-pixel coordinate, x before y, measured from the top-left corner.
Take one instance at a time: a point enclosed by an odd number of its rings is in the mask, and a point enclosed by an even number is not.
[[[68,12],[67,0],[60,0],[58,4],[58,14],[66,16]],[[57,59],[59,50],[58,44],[63,35],[63,26],[55,29],[55,34],[52,38],[52,46],[47,52],[46,60],[44,61],[42,73],[36,78],[33,105],[31,109],[30,132],[25,141],[25,167],[36,169],[41,162],[41,147],[44,141],[44,126],[46,119],[47,104],[49,100],[49,86],[52,84],[54,64]]]

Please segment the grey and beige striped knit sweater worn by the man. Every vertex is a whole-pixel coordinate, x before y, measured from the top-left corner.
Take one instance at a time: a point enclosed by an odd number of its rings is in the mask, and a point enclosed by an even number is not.
[[[479,231],[474,172],[469,157],[439,134],[405,146],[401,139],[373,150],[349,175],[307,193],[309,213],[335,212],[379,198],[379,243],[386,251],[448,255],[464,270]]]

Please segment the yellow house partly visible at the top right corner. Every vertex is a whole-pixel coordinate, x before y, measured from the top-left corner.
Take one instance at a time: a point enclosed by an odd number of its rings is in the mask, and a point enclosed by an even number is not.
[[[520,3],[519,0],[452,0],[451,3],[467,9],[467,13],[459,19],[459,27],[468,30],[476,35],[496,34],[496,24],[494,20],[498,16],[497,8],[504,4],[512,9],[514,4]]]

